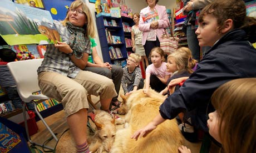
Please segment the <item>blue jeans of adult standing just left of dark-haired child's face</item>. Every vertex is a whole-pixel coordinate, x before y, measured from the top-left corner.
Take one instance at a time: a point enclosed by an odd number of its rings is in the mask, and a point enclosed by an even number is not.
[[[195,34],[195,29],[191,29],[191,25],[188,25],[188,27],[186,28],[186,37],[193,58],[200,61],[200,46],[197,35]]]

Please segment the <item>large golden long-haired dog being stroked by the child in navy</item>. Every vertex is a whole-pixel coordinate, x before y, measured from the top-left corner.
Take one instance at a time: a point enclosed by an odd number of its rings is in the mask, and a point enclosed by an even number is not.
[[[166,120],[150,132],[146,137],[139,138],[137,141],[130,137],[136,130],[146,126],[159,114],[159,106],[164,101],[164,96],[150,89],[151,97],[138,90],[132,93],[129,98],[124,96],[124,103],[119,111],[127,111],[125,120],[129,124],[125,129],[116,132],[116,138],[111,152],[130,153],[130,152],[177,152],[181,146],[182,136],[176,120]]]

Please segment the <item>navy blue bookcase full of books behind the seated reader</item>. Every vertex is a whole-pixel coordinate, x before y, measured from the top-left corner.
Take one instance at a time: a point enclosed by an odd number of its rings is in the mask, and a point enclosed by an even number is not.
[[[127,59],[126,38],[130,37],[131,32],[124,32],[122,19],[123,17],[96,16],[96,24],[104,62],[124,67]],[[132,21],[131,18],[124,19]]]

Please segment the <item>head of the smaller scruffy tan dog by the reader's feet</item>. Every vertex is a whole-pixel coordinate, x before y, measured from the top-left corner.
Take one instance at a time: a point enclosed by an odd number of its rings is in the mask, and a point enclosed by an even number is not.
[[[115,118],[112,119],[106,111],[99,111],[95,116],[95,125],[104,150],[109,152],[116,136]]]

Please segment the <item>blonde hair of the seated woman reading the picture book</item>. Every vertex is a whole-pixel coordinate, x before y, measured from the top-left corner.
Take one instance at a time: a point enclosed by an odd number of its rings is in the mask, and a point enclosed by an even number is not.
[[[81,1],[81,0],[76,0],[71,3],[70,9],[76,9],[77,7],[82,6],[82,11],[86,15],[86,34],[85,36],[90,36],[91,38],[95,38],[95,27],[93,24],[93,19],[92,19],[92,14],[90,12],[90,9],[87,7],[87,5]],[[69,21],[68,13],[66,15],[66,18],[62,21],[62,24],[66,26],[66,23]]]

